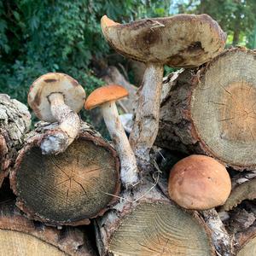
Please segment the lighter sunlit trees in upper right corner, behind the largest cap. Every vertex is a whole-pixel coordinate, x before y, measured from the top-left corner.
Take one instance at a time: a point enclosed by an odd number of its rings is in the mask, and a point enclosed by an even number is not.
[[[255,0],[189,0],[177,1],[179,13],[208,14],[228,33],[228,43],[252,46],[249,38],[256,25]]]

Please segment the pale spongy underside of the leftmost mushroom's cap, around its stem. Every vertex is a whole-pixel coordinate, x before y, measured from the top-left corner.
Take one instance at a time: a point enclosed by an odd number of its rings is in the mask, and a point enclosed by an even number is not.
[[[56,121],[48,99],[53,93],[61,93],[65,104],[76,113],[84,106],[85,91],[77,80],[65,73],[46,73],[33,82],[27,96],[27,102],[38,119]]]

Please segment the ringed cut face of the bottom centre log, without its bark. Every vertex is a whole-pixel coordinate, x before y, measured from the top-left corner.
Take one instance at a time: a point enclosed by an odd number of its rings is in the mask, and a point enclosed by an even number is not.
[[[213,255],[203,224],[164,202],[135,207],[120,222],[108,249],[116,255]]]

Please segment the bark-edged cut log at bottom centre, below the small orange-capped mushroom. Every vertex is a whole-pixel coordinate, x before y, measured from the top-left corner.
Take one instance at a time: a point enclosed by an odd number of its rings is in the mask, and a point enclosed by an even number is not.
[[[100,255],[215,255],[196,212],[185,212],[154,187],[125,192],[111,211],[96,219]]]

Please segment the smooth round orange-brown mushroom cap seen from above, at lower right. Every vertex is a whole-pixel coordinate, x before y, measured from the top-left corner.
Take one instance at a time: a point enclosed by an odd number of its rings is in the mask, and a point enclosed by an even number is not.
[[[172,167],[168,192],[181,207],[195,210],[218,207],[224,204],[230,191],[229,173],[211,157],[193,154]]]

